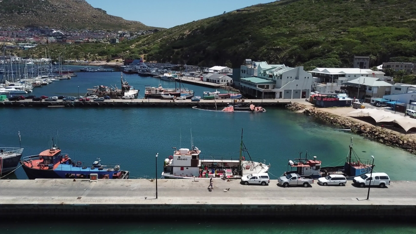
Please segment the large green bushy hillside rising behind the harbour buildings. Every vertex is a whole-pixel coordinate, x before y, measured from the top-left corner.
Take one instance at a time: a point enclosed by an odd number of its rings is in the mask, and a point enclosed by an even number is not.
[[[250,58],[307,70],[351,67],[354,55],[370,56],[371,66],[416,60],[413,0],[280,0],[243,10],[117,45],[70,45],[66,57],[144,55],[159,62],[233,67]],[[54,50],[62,53],[61,47]]]

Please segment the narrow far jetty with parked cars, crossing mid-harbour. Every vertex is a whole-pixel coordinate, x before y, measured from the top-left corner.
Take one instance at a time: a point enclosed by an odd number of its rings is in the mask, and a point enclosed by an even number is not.
[[[198,108],[223,108],[229,105],[267,107],[284,107],[285,105],[301,101],[300,99],[216,99],[216,100],[163,100],[163,99],[109,99],[104,101],[32,101],[30,99],[20,101],[3,101],[0,102],[0,108],[7,107],[83,107],[83,108],[104,108],[104,107],[198,107]]]

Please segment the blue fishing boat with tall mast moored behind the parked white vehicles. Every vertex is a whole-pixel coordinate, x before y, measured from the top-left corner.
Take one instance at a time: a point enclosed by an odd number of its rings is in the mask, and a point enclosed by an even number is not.
[[[317,179],[329,174],[340,174],[344,175],[346,178],[354,178],[371,172],[372,164],[370,164],[370,159],[361,159],[355,154],[352,137],[349,147],[350,150],[345,164],[329,167],[321,167],[322,161],[317,160],[317,156],[314,156],[314,159],[312,160],[308,159],[308,151],[306,151],[305,157],[302,157],[302,152],[299,152],[299,158],[296,158],[293,161],[289,160],[288,171],[285,172],[284,175],[297,173],[300,176],[311,176],[312,178]],[[352,158],[353,154],[355,155],[356,161]],[[289,167],[291,168],[290,170]]]

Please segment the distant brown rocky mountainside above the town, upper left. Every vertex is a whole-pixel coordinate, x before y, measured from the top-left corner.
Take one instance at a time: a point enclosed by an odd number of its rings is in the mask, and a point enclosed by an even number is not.
[[[0,0],[0,26],[130,31],[155,28],[110,16],[85,0]]]

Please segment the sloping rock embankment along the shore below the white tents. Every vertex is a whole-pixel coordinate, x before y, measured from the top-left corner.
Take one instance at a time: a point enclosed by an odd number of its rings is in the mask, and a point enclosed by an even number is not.
[[[364,137],[375,139],[380,143],[400,147],[413,154],[416,154],[416,142],[405,136],[399,136],[393,132],[380,129],[376,126],[358,123],[357,121],[346,119],[344,117],[329,114],[316,108],[305,109],[303,114],[307,116],[317,117],[328,123],[339,126],[342,129],[351,129],[351,132]]]

